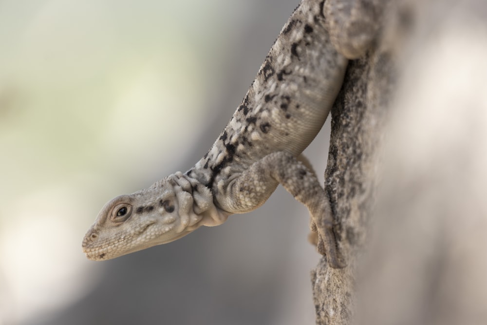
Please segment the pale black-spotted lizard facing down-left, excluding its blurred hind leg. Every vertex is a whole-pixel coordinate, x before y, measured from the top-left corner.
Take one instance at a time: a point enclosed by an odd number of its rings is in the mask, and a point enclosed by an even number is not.
[[[300,2],[201,160],[185,173],[105,204],[82,242],[89,259],[112,259],[221,225],[231,214],[260,207],[281,184],[308,208],[318,252],[328,265],[346,266],[330,199],[299,159],[329,115],[348,64],[327,30],[333,1]]]

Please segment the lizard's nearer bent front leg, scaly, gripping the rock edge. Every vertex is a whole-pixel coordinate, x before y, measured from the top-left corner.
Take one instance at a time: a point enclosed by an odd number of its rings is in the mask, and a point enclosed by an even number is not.
[[[218,205],[230,213],[245,213],[260,207],[281,184],[304,204],[318,232],[318,251],[332,268],[343,268],[338,257],[330,201],[315,174],[290,153],[275,152],[254,162],[232,178],[216,195]],[[221,193],[221,194],[220,194]]]

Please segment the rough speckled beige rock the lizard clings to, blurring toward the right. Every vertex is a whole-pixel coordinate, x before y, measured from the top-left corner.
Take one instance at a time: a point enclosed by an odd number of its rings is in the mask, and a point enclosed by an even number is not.
[[[317,324],[487,324],[486,15],[387,2],[350,62],[325,172],[349,266],[312,271]]]

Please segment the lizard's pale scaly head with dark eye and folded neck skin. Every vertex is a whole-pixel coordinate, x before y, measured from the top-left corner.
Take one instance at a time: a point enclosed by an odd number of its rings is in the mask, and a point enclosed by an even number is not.
[[[86,233],[83,252],[91,260],[107,260],[223,223],[227,215],[215,210],[211,191],[199,183],[193,188],[190,181],[196,182],[178,172],[148,189],[115,197]],[[214,212],[223,221],[215,223]]]

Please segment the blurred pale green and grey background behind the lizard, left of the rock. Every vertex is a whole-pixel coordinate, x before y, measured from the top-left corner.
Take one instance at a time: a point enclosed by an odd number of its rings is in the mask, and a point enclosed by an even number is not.
[[[314,323],[319,255],[282,188],[183,240],[81,251],[105,202],[206,153],[298,2],[0,0],[0,325]]]

